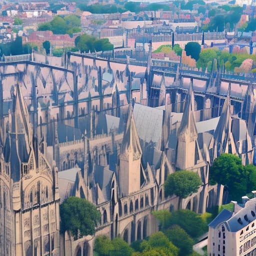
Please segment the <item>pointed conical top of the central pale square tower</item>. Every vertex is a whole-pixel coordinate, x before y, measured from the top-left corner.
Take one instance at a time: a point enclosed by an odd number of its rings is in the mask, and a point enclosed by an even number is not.
[[[142,150],[139,143],[139,138],[137,134],[137,129],[134,121],[134,116],[132,112],[132,105],[129,104],[128,119],[126,124],[126,129],[123,133],[123,140],[121,145],[121,153],[133,152],[133,158],[140,157]]]

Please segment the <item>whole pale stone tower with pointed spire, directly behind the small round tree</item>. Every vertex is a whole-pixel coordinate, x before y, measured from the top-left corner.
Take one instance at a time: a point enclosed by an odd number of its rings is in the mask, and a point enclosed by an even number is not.
[[[191,81],[185,109],[177,132],[176,168],[191,169],[198,161],[202,160],[197,142],[197,130],[194,119],[194,94]]]

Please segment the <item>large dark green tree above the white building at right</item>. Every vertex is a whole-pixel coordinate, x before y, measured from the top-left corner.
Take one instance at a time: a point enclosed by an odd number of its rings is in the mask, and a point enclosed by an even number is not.
[[[246,172],[238,156],[221,154],[213,161],[209,173],[210,183],[217,182],[227,187],[233,200],[240,200],[240,197],[246,193]]]

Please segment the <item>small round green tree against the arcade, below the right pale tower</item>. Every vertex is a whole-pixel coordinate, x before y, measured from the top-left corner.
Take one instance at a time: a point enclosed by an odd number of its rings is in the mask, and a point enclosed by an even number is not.
[[[164,192],[166,192],[166,195],[175,194],[185,198],[196,192],[201,183],[201,179],[196,172],[179,170],[168,175],[164,182]]]

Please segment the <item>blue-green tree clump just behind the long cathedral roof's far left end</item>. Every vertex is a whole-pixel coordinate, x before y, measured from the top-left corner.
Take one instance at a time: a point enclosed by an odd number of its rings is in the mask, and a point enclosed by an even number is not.
[[[113,44],[107,38],[96,39],[94,36],[82,34],[75,38],[75,47],[80,49],[81,52],[112,50]]]

